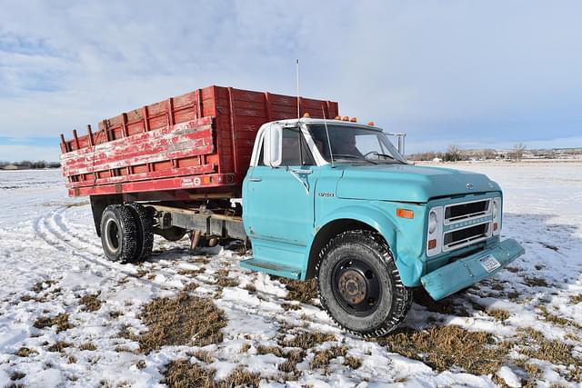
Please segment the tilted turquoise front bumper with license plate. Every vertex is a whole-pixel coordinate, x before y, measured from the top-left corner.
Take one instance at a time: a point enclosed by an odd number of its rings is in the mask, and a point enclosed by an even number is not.
[[[454,263],[442,266],[430,274],[424,275],[420,282],[425,287],[426,292],[437,301],[497,274],[498,271],[525,252],[523,246],[510,238],[485,251],[471,254]],[[490,267],[487,271],[486,265],[482,264],[484,259],[487,260],[487,256],[492,256],[497,260],[499,266]],[[490,264],[491,260],[487,260],[487,262]]]

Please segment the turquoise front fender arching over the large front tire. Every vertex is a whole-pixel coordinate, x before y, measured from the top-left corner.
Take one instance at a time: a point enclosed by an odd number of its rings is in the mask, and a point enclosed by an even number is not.
[[[396,207],[413,210],[415,218],[397,218]],[[366,204],[337,207],[321,220],[317,220],[316,231],[319,233],[327,224],[339,220],[354,220],[371,226],[384,237],[390,247],[403,284],[416,287],[420,285],[420,277],[425,270],[425,264],[420,258],[424,246],[425,218],[425,207],[421,205],[370,201]],[[317,235],[312,244],[316,237]]]

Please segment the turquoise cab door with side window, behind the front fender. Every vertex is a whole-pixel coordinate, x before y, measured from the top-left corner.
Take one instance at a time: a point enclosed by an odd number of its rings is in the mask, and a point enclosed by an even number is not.
[[[261,150],[263,144],[261,144]],[[306,245],[314,228],[314,158],[299,128],[283,128],[281,164],[259,161],[247,178],[245,223],[251,239]]]

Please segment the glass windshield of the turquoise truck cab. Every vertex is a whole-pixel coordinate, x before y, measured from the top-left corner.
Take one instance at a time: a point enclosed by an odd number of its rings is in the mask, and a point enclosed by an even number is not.
[[[319,153],[327,162],[331,162],[329,155],[331,144],[334,162],[406,164],[402,155],[398,154],[386,134],[381,131],[360,126],[327,124],[328,144],[325,124],[308,126]]]

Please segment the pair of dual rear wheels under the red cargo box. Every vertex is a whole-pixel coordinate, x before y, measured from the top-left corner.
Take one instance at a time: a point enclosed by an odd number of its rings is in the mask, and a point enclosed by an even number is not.
[[[141,204],[111,204],[101,217],[101,244],[112,262],[132,263],[152,254],[152,217]]]

